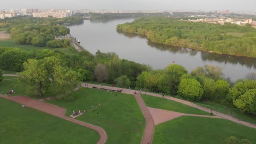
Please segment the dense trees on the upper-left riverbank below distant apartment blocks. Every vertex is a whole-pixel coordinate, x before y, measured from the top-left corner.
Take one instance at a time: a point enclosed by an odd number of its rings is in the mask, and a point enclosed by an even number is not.
[[[48,46],[48,47],[67,47],[69,41],[55,40],[55,37],[69,34],[69,28],[62,25],[78,24],[83,22],[82,15],[74,15],[63,19],[53,17],[15,17],[12,19],[0,20],[4,23],[11,38],[18,44]]]

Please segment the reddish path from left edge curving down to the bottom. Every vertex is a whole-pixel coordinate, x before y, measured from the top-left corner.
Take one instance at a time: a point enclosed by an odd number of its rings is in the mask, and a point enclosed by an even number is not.
[[[65,119],[66,121],[77,123],[79,125],[82,125],[84,127],[88,127],[90,129],[94,129],[98,131],[98,134],[100,135],[100,140],[97,142],[98,144],[106,143],[107,141],[107,134],[106,131],[100,127],[97,127],[96,125],[92,125],[89,123],[85,123],[82,121],[78,121],[77,119],[73,119],[71,117],[65,116],[66,109],[63,107],[51,105],[48,103],[44,103],[43,101],[34,100],[32,98],[24,97],[24,96],[13,96],[13,97],[7,97],[5,95],[0,94],[0,97],[15,101],[16,103],[20,103],[22,105],[26,105],[27,107],[31,107],[33,109],[43,111],[45,113],[49,113],[50,115],[60,117],[62,119]]]

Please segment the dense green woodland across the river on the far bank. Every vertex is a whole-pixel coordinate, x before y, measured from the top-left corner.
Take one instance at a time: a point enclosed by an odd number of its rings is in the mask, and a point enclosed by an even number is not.
[[[251,26],[141,17],[131,23],[118,25],[117,29],[121,32],[146,35],[155,43],[256,57],[256,29]]]

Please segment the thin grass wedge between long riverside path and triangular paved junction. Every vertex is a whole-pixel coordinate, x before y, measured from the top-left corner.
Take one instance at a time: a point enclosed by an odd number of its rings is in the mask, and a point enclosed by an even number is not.
[[[191,114],[197,114],[197,115],[211,115],[208,112],[198,110],[194,107],[184,105],[176,101],[162,99],[162,98],[153,97],[153,96],[144,95],[144,94],[141,94],[141,96],[147,106],[154,107],[156,109],[170,110],[170,111],[176,111],[176,112],[182,112],[182,113],[191,113]]]

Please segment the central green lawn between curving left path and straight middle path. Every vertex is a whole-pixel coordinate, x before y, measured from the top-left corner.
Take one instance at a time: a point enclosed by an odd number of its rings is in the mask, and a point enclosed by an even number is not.
[[[77,117],[80,121],[95,124],[108,135],[107,143],[141,143],[145,120],[133,95],[110,93],[98,89],[80,88],[73,101],[50,100],[48,103],[72,111],[96,109]],[[100,104],[100,105],[99,105]]]

